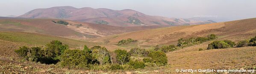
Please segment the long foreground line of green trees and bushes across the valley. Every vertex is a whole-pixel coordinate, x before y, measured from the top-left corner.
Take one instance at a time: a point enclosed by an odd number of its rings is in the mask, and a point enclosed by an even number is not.
[[[162,66],[167,64],[167,57],[163,51],[137,50],[126,51],[116,49],[108,51],[105,47],[93,46],[83,49],[70,49],[68,45],[58,40],[53,40],[45,47],[22,46],[15,52],[26,60],[44,63],[57,64],[67,68],[88,68],[88,69],[137,69],[148,65]],[[143,55],[143,60],[131,60],[135,54]],[[101,66],[101,67],[100,67]],[[102,67],[104,66],[104,67]]]

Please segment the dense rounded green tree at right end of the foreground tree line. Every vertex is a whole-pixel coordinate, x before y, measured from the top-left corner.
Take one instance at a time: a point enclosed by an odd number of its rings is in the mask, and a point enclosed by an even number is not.
[[[150,52],[148,56],[151,57],[152,63],[156,63],[158,65],[167,64],[167,57],[165,52],[163,51],[153,51],[153,52]]]

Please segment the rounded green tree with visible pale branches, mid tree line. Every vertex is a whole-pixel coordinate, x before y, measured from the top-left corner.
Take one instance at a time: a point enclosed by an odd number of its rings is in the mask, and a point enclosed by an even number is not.
[[[130,55],[127,51],[117,49],[114,52],[116,54],[116,59],[119,64],[124,65],[125,63],[129,62]]]

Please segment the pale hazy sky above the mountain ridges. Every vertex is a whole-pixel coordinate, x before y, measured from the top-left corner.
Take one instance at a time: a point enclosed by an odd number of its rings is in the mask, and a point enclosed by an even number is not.
[[[256,0],[0,0],[0,16],[18,16],[32,9],[54,6],[133,9],[148,15],[176,18],[204,16],[238,20],[256,17]]]

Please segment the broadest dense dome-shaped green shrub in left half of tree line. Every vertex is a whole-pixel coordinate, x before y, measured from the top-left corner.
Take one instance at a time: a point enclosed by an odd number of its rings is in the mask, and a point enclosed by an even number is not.
[[[61,55],[61,65],[69,68],[88,67],[91,64],[91,55],[81,50],[66,50]]]

